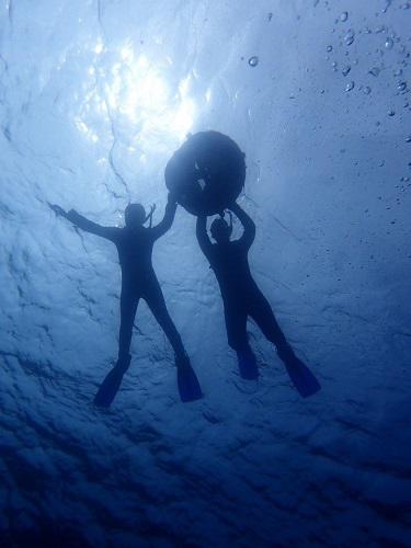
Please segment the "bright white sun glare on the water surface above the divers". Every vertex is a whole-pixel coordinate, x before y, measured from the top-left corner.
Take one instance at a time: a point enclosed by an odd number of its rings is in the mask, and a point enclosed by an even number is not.
[[[87,113],[92,110],[121,124],[123,132],[127,128],[132,145],[139,144],[140,148],[159,140],[175,146],[184,139],[195,114],[190,76],[175,81],[169,58],[153,62],[147,55],[137,55],[130,44],[114,54],[98,41],[92,50],[99,62],[88,68],[88,75],[95,84],[83,115],[76,119],[84,136],[99,140],[88,125]]]

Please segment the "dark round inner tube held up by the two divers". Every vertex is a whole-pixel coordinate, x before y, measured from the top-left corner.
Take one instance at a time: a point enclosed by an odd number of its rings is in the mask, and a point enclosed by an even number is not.
[[[239,196],[246,181],[246,155],[227,135],[189,136],[169,160],[165,186],[193,215],[217,215]]]

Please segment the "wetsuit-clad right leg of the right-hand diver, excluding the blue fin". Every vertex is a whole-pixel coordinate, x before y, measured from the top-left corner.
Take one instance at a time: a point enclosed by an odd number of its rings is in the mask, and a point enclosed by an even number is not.
[[[270,302],[260,289],[254,289],[253,293],[249,295],[248,304],[249,315],[259,326],[266,339],[276,345],[279,356],[293,356],[294,352],[275,319]]]

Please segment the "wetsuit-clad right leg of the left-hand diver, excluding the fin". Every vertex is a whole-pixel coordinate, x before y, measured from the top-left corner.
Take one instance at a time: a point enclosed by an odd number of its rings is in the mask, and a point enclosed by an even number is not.
[[[165,306],[164,296],[162,294],[160,284],[157,279],[152,279],[146,285],[141,297],[146,300],[153,317],[159,322],[164,331],[174,353],[178,357],[185,357],[185,349],[181,340],[180,333],[176,330],[173,320],[171,319]]]

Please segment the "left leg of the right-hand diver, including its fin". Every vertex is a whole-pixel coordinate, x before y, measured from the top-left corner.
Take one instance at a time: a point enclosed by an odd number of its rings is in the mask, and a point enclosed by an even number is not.
[[[247,311],[237,305],[225,302],[224,316],[228,344],[237,353],[238,368],[242,378],[252,380],[259,377],[256,359],[247,334]]]

